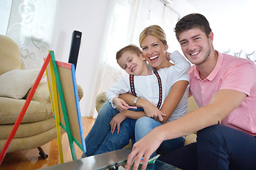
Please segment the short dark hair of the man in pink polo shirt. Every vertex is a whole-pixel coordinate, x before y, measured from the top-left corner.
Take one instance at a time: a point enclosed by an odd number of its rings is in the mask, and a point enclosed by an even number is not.
[[[191,30],[192,28],[200,28],[206,36],[209,37],[211,32],[210,24],[207,21],[206,17],[200,13],[191,13],[176,23],[176,27],[174,28],[174,32],[176,33],[176,38],[178,40],[178,36],[186,30]]]

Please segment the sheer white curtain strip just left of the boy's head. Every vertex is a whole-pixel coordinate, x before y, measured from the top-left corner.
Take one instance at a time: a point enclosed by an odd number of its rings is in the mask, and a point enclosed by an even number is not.
[[[110,35],[105,47],[105,65],[100,80],[100,92],[107,91],[121,77],[124,72],[120,72],[119,65],[115,60],[117,50],[124,47],[129,42],[129,15],[131,12],[131,1],[118,0],[112,11],[112,22],[110,26]]]

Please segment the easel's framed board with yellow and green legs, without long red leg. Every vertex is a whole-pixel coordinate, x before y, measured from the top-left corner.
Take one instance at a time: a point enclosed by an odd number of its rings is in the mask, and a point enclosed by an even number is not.
[[[63,163],[60,127],[68,134],[73,160],[76,159],[74,142],[82,152],[86,152],[85,137],[82,130],[75,66],[74,64],[55,61],[53,51],[50,51],[50,56],[51,60],[46,67],[46,75],[58,133],[60,163]],[[55,90],[56,86],[58,91]]]

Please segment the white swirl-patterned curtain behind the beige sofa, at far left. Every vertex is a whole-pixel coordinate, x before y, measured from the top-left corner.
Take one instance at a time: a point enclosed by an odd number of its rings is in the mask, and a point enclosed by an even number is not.
[[[12,1],[6,36],[17,43],[23,69],[41,68],[53,38],[57,1]]]

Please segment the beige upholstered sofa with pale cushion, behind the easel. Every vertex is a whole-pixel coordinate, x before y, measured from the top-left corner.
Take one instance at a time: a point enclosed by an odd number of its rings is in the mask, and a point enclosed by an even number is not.
[[[40,69],[23,69],[18,45],[4,35],[0,35],[0,61],[1,151]],[[82,98],[80,86],[78,86],[78,91]],[[43,152],[41,145],[56,137],[48,83],[46,79],[42,79],[7,152],[38,148],[39,154],[46,159],[48,155]]]

